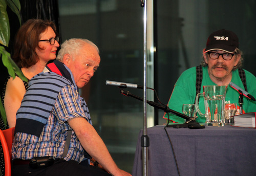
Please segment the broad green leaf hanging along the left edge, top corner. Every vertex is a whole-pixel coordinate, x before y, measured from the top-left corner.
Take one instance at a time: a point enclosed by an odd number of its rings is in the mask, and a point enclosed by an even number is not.
[[[10,26],[6,6],[6,1],[0,0],[0,43],[8,47],[10,40]]]

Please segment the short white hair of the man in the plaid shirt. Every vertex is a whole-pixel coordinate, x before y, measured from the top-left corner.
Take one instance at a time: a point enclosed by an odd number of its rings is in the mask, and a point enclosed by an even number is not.
[[[98,47],[92,41],[83,38],[71,38],[62,43],[61,49],[59,50],[56,59],[62,62],[65,54],[78,55],[79,51],[82,49],[82,47],[84,47],[84,45],[86,45],[86,43],[95,47],[95,49],[99,53]]]

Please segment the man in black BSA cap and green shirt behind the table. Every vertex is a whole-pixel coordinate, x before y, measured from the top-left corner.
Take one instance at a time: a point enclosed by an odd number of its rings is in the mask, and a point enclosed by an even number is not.
[[[256,78],[246,70],[241,69],[242,52],[239,50],[238,36],[232,31],[221,29],[208,37],[203,50],[201,66],[186,70],[177,80],[170,96],[169,108],[182,113],[183,104],[193,104],[196,94],[203,92],[203,85],[228,85],[231,82],[256,96]],[[225,101],[237,103],[239,93],[230,85],[227,87]],[[204,113],[203,99],[199,100],[199,108]],[[239,108],[238,108],[239,109]],[[243,113],[255,112],[256,103],[244,98]],[[174,122],[184,122],[184,119],[169,115]],[[167,114],[164,118],[168,118]],[[204,123],[205,117],[198,114],[197,122]]]

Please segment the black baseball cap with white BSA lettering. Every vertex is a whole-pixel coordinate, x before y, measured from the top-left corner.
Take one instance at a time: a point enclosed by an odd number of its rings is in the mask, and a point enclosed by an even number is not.
[[[238,36],[232,31],[221,29],[210,34],[204,52],[207,53],[212,50],[222,50],[232,53],[238,47]]]

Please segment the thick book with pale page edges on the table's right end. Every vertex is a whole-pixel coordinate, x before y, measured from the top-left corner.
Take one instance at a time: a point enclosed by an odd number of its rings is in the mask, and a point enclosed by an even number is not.
[[[234,123],[231,126],[256,128],[255,115],[256,113],[254,112],[233,116]]]

